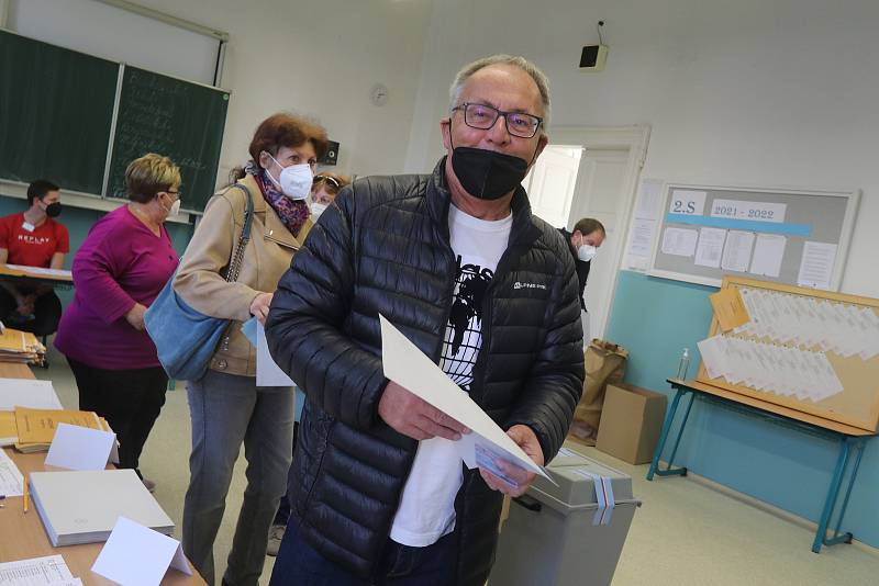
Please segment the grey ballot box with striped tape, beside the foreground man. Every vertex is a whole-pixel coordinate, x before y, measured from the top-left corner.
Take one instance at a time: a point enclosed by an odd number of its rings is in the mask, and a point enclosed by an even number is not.
[[[566,443],[510,505],[489,585],[607,586],[641,502],[632,478]]]

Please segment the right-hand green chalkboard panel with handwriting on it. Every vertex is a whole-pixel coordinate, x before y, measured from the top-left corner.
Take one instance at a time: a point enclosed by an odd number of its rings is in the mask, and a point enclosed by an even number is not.
[[[179,167],[182,209],[204,210],[216,181],[229,93],[125,66],[107,195],[125,198],[125,168],[146,153]]]

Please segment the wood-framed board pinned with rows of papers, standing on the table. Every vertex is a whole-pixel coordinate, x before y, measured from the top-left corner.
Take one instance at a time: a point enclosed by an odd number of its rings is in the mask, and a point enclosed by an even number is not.
[[[830,421],[871,432],[879,430],[879,300],[742,278],[724,279],[722,291],[730,288],[737,290],[739,296],[747,297],[756,293],[769,301],[759,312],[752,308],[748,313],[750,322],[761,323],[764,334],[741,331],[742,328],[722,331],[715,314],[710,338],[699,342],[702,361],[697,379],[700,382]],[[795,306],[800,308],[785,315],[788,307]],[[819,312],[834,318],[826,319],[825,316],[824,325],[821,325],[814,319]],[[716,375],[715,372],[712,376],[709,367],[715,371],[723,369],[709,362],[710,353],[703,345],[715,337],[736,338],[750,343],[752,348],[761,349],[763,356],[756,357],[757,352],[752,354],[757,360],[752,361],[749,371],[764,381],[783,382],[781,369],[766,369],[767,364],[774,363],[768,360],[768,354],[782,350],[825,357],[838,380],[838,386],[816,385],[817,394],[812,396],[806,392],[769,391],[764,384],[759,385],[764,386],[760,390],[742,381],[731,382],[746,373],[731,375],[730,362],[726,364],[726,374]],[[837,343],[841,347],[835,347]],[[805,374],[800,380],[810,384],[815,376]],[[793,381],[788,380],[787,383],[792,384]]]

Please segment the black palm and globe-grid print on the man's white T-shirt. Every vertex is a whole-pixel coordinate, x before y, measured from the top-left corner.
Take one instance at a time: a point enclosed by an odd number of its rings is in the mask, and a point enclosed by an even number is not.
[[[474,364],[482,345],[482,298],[494,273],[472,261],[467,262],[460,255],[456,272],[455,301],[439,367],[455,384],[469,392]]]

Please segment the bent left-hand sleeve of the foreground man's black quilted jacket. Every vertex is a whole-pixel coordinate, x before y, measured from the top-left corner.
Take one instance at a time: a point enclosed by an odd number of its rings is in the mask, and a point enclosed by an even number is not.
[[[342,330],[355,286],[357,202],[351,195],[347,188],[321,214],[278,283],[266,338],[275,361],[311,403],[348,426],[368,429],[378,421],[387,380],[380,357]]]

